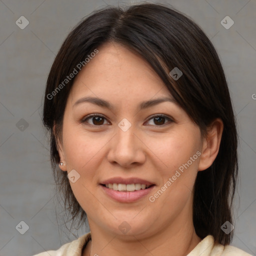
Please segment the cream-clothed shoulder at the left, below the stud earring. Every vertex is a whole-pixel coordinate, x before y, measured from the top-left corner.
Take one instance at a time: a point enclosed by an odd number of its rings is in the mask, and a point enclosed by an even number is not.
[[[63,244],[57,250],[47,250],[33,256],[80,256],[83,246],[89,241],[90,237],[90,232],[88,232],[76,240]]]

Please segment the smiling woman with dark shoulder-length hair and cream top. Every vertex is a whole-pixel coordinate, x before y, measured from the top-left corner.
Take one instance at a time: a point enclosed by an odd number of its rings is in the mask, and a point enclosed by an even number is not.
[[[228,245],[237,133],[227,83],[183,14],[144,3],[81,21],[49,72],[43,123],[65,206],[90,232],[37,255],[249,255]]]

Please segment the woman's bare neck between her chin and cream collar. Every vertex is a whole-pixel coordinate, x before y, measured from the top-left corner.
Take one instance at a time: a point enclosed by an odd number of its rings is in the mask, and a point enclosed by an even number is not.
[[[171,225],[153,232],[152,235],[130,235],[125,239],[114,233],[110,234],[91,222],[91,241],[87,244],[83,256],[187,255],[201,239],[195,233],[192,218],[184,218],[181,215],[177,216]]]

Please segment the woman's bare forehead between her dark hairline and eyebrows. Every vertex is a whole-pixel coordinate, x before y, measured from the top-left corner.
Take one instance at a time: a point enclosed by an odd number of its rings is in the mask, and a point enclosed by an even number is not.
[[[77,74],[70,94],[71,101],[84,95],[117,101],[171,96],[146,60],[113,42],[98,48],[98,53]]]

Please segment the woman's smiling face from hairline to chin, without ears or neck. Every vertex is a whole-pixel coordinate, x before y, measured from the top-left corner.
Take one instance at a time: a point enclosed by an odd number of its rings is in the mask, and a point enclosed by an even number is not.
[[[136,237],[170,227],[176,233],[192,218],[199,127],[145,60],[114,43],[98,50],[67,99],[61,168],[91,229]],[[169,100],[154,101],[162,98]]]

